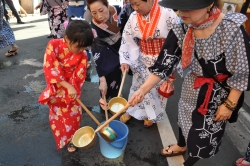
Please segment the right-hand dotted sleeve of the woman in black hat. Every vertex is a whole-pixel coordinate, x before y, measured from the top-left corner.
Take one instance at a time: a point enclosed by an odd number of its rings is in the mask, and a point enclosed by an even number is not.
[[[250,44],[249,37],[243,26],[226,49],[226,67],[232,74],[227,84],[240,91],[250,90]]]

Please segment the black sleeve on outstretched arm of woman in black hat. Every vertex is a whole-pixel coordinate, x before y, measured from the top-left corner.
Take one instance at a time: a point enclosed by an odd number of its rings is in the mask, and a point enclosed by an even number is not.
[[[180,57],[181,49],[178,46],[178,39],[173,30],[170,30],[155,64],[149,67],[149,71],[167,80],[174,72]]]

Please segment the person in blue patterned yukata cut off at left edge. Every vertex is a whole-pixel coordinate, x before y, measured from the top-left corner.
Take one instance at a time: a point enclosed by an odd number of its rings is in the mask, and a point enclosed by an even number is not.
[[[9,57],[18,53],[18,46],[16,45],[16,40],[12,29],[3,19],[5,10],[4,6],[4,0],[0,0],[0,48],[5,48],[10,45],[10,50],[5,54],[7,57]]]

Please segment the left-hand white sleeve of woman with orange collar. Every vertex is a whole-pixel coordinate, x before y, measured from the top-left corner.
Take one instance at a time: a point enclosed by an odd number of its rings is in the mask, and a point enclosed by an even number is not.
[[[134,17],[135,15],[131,15],[125,25],[122,34],[121,47],[119,49],[120,64],[126,63],[132,70],[138,66],[140,55],[139,39],[133,36],[132,20]]]

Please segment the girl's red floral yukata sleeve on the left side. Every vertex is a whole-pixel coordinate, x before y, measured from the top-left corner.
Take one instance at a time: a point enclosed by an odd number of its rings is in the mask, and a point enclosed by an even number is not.
[[[65,80],[64,72],[56,59],[56,52],[58,46],[51,40],[46,48],[44,55],[43,70],[47,84],[54,84]]]

